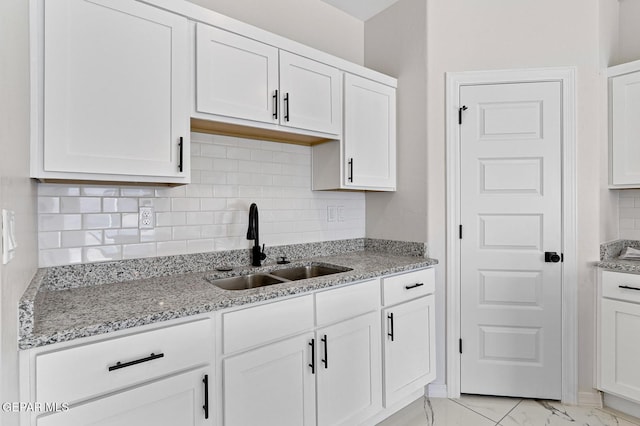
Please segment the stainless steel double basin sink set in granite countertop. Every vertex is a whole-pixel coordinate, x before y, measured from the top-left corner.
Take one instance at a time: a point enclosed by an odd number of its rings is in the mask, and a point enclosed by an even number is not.
[[[326,264],[310,264],[276,269],[270,272],[238,275],[230,278],[215,278],[215,276],[207,276],[206,279],[211,284],[224,290],[247,290],[250,288],[282,284],[289,281],[306,280],[309,278],[322,277],[347,271],[351,271],[351,268]]]

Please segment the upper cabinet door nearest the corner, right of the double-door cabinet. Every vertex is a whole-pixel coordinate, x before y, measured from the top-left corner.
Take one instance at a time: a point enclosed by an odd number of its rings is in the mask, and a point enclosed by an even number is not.
[[[345,74],[344,108],[344,185],[395,190],[395,89]]]

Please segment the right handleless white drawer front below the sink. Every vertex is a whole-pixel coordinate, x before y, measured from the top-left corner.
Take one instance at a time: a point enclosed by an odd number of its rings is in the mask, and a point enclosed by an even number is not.
[[[316,294],[316,323],[331,324],[375,311],[379,306],[377,279],[322,291]]]

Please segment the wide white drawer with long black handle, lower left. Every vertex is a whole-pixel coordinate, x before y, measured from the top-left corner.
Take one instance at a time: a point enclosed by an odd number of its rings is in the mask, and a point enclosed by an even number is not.
[[[213,333],[204,319],[37,355],[37,400],[73,403],[207,364]]]

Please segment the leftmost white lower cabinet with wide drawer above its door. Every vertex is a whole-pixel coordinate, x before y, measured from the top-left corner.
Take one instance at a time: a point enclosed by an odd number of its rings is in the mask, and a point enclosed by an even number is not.
[[[21,424],[212,426],[213,347],[205,317],[26,351],[21,400],[58,405],[25,413]]]

